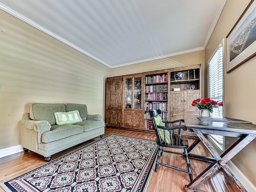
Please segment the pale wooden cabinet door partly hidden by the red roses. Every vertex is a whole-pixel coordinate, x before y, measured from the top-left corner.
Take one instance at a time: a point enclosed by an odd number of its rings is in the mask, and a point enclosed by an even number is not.
[[[199,90],[184,91],[184,112],[197,112],[197,108],[191,105],[197,98],[200,98]]]

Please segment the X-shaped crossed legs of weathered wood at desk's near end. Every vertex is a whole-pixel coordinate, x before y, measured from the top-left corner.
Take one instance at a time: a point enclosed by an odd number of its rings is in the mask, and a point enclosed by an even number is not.
[[[194,191],[196,188],[202,184],[205,180],[207,180],[212,174],[214,174],[220,168],[223,168],[231,180],[236,184],[236,186],[242,192],[247,192],[247,190],[242,186],[239,180],[234,176],[232,171],[226,165],[232,157],[234,157],[240,150],[242,150],[248,143],[250,143],[256,135],[247,135],[240,138],[237,142],[235,142],[228,150],[226,150],[221,156],[216,152],[214,147],[210,144],[210,142],[205,138],[204,134],[202,134],[201,130],[193,129],[197,134],[198,138],[202,141],[202,143],[208,148],[210,153],[214,156],[215,161],[201,174],[199,174],[190,184],[185,186],[187,192]]]

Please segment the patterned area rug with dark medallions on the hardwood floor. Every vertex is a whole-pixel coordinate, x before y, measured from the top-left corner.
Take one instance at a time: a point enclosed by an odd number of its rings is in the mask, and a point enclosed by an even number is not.
[[[1,184],[7,192],[143,192],[156,142],[110,134]]]

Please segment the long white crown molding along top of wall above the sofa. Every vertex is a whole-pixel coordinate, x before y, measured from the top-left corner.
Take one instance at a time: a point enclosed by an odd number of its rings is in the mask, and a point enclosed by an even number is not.
[[[31,25],[31,26],[33,26],[33,27],[39,29],[40,31],[42,31],[42,32],[44,32],[44,33],[46,33],[46,34],[52,36],[53,38],[56,38],[57,40],[63,42],[64,44],[67,44],[68,46],[70,46],[70,47],[72,47],[72,48],[78,50],[79,52],[81,52],[81,53],[83,53],[83,54],[86,54],[86,55],[89,56],[90,58],[93,58],[94,60],[96,60],[96,61],[98,61],[98,62],[100,62],[100,63],[102,63],[102,64],[104,64],[104,65],[106,65],[106,66],[108,66],[108,67],[111,68],[111,66],[110,66],[109,64],[107,64],[106,62],[100,60],[99,58],[93,56],[92,54],[86,52],[85,50],[79,48],[78,46],[72,44],[71,42],[65,40],[64,38],[62,38],[62,37],[60,37],[60,36],[54,34],[53,32],[47,30],[46,28],[44,28],[44,27],[38,25],[37,23],[35,23],[35,22],[33,22],[32,20],[26,18],[26,17],[23,16],[22,14],[19,14],[18,12],[16,12],[16,11],[10,9],[9,7],[5,6],[5,5],[2,4],[2,3],[0,3],[0,9],[2,9],[2,10],[4,10],[5,12],[11,14],[12,16],[14,16],[14,17],[16,17],[16,18],[18,18],[18,19],[20,19],[20,20],[26,22],[27,24],[29,24],[29,25]]]

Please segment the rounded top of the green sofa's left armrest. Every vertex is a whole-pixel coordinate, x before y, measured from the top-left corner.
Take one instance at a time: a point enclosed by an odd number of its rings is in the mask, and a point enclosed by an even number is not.
[[[20,124],[23,128],[28,128],[36,132],[46,132],[51,129],[51,125],[48,121],[22,119]]]

